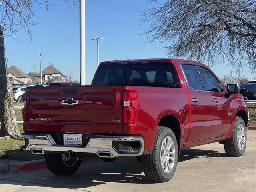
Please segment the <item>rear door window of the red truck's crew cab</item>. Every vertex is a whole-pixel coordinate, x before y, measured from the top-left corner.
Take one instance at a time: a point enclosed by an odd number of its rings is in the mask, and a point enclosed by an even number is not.
[[[187,82],[191,88],[198,91],[203,91],[204,86],[200,78],[199,72],[195,65],[182,64]]]

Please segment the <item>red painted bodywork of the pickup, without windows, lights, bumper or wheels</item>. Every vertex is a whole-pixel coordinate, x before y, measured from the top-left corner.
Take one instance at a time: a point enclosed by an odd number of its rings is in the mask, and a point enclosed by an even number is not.
[[[24,113],[27,112],[28,122],[24,123],[24,131],[140,135],[145,142],[144,150],[152,150],[161,118],[171,115],[179,122],[181,148],[231,137],[237,112],[243,110],[247,113],[243,97],[232,94],[227,98],[223,84],[225,92],[196,91],[190,88],[181,64],[199,65],[209,69],[204,64],[188,60],[146,59],[102,62],[99,68],[104,65],[150,62],[174,64],[182,88],[53,86],[28,89],[24,110]],[[92,85],[95,77],[96,75]],[[64,94],[64,89],[76,89],[78,92]],[[122,123],[124,91],[138,93],[138,99],[133,101],[136,108],[135,124]],[[79,102],[74,106],[61,104],[62,100],[68,98]],[[192,98],[198,98],[199,101],[192,102]],[[213,102],[215,98],[219,99],[218,103]]]

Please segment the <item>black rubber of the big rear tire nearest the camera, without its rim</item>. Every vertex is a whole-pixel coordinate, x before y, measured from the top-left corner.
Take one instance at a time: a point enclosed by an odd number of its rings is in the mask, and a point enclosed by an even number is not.
[[[166,137],[170,137],[174,143],[174,160],[172,169],[169,173],[164,172],[161,165],[161,146]],[[154,182],[169,181],[176,170],[178,163],[178,144],[174,132],[168,127],[158,127],[153,151],[149,155],[141,156],[142,168],[145,176]]]

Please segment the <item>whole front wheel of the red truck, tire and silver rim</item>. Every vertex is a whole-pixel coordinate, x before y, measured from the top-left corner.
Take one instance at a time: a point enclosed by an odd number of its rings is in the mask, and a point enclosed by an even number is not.
[[[232,138],[232,144],[224,144],[226,154],[232,157],[242,156],[246,148],[247,135],[246,125],[241,117],[236,117]]]

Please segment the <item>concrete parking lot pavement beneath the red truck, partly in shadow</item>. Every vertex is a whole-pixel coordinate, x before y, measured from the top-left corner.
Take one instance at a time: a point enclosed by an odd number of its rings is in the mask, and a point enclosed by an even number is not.
[[[136,158],[113,163],[84,162],[72,176],[55,176],[47,169],[5,174],[2,192],[256,192],[256,130],[248,131],[246,153],[226,156],[218,143],[182,150],[176,173],[166,183],[149,182]]]

